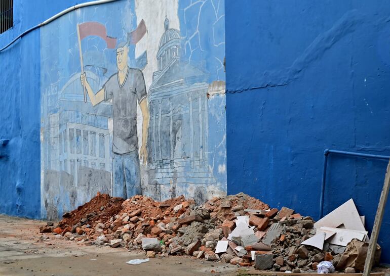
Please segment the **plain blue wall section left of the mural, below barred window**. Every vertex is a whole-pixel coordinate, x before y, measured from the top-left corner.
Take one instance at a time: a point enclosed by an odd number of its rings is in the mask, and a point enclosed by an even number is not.
[[[26,29],[83,1],[14,1],[14,27],[0,34],[0,48]],[[40,217],[40,30],[0,52],[0,213]]]

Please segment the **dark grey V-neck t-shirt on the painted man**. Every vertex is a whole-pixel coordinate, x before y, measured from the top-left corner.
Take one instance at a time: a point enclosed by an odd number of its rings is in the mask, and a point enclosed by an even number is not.
[[[120,85],[118,73],[115,73],[103,85],[103,89],[104,100],[112,99],[112,151],[125,154],[138,150],[137,101],[140,103],[146,97],[142,71],[128,68],[122,85]]]

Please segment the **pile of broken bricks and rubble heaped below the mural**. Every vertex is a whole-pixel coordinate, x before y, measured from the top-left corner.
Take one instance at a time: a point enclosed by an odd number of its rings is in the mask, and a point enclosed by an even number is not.
[[[124,200],[98,193],[64,214],[58,225],[48,223],[41,232],[87,245],[142,248],[147,257],[186,254],[258,269],[300,272],[315,270],[324,260],[336,266],[345,249],[329,245],[326,240],[334,234],[329,229],[319,230],[322,224],[315,226],[311,217],[294,214],[286,207],[270,209],[243,193],[213,198],[202,206],[183,196],[156,202],[139,195]],[[366,235],[359,237],[363,240]]]

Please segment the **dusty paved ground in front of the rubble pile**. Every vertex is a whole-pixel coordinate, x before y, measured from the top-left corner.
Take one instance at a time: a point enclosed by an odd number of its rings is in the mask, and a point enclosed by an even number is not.
[[[152,258],[147,263],[142,251],[86,246],[44,234],[38,227],[46,222],[0,215],[0,275],[237,275],[240,268],[222,262],[188,256]],[[58,237],[58,236],[57,236]]]

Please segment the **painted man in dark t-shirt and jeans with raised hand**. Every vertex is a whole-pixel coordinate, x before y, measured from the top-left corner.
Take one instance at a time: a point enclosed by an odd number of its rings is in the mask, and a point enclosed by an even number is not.
[[[112,99],[113,196],[123,198],[141,194],[137,102],[143,117],[140,154],[144,164],[147,159],[146,141],[149,126],[145,80],[141,70],[128,67],[128,52],[127,43],[120,43],[116,49],[118,73],[113,74],[96,94],[89,85],[85,73],[81,75],[82,85],[85,85],[93,106]]]

